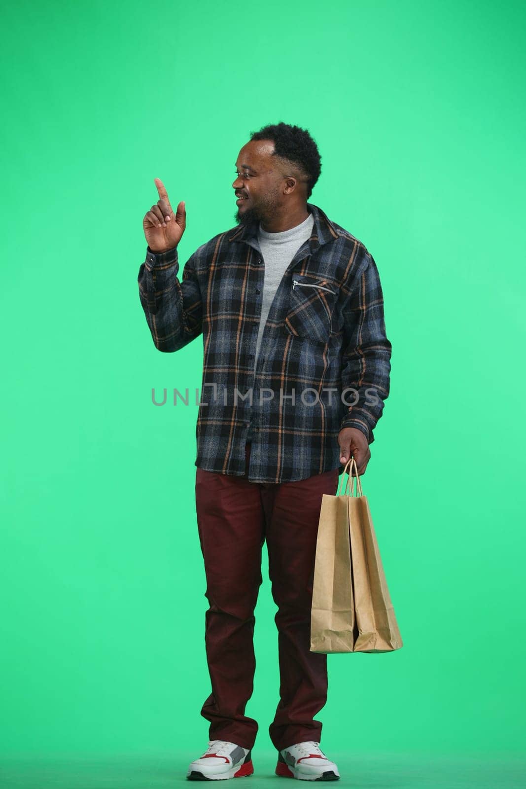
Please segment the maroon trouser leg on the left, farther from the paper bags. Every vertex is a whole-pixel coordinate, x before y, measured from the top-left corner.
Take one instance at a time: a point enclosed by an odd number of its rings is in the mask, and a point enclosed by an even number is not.
[[[250,445],[245,457],[248,461]],[[253,634],[265,520],[260,486],[245,477],[196,469],[197,525],[207,578],[205,645],[212,692],[201,715],[209,739],[252,748],[258,731],[244,715],[252,696]]]

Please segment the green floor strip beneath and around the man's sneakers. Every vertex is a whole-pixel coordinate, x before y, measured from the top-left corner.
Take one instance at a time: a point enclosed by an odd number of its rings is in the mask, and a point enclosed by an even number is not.
[[[254,751],[255,771],[237,778],[237,789],[289,785],[291,779],[274,776],[275,754]],[[1,789],[156,789],[156,787],[201,786],[185,779],[188,762],[195,754],[186,752],[113,757],[4,757],[0,760]],[[524,789],[526,757],[520,754],[436,753],[331,753],[341,779],[330,786],[356,789],[424,789],[424,787],[476,787],[476,789]],[[302,784],[304,785],[304,784]]]

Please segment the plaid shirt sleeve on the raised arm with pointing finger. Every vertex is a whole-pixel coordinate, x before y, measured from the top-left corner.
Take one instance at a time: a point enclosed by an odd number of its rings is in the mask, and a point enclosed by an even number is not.
[[[158,350],[181,350],[203,331],[203,302],[196,274],[202,249],[187,260],[180,281],[177,248],[152,252],[147,247],[137,282],[140,303]]]

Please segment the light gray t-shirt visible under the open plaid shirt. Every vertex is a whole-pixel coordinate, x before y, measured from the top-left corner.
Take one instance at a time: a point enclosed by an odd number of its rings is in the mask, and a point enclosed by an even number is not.
[[[261,318],[259,320],[259,331],[256,341],[254,368],[256,368],[258,361],[263,329],[265,328],[265,323],[267,323],[267,316],[270,311],[270,305],[274,299],[274,294],[293,256],[298,249],[300,249],[300,246],[303,245],[304,241],[307,241],[307,239],[311,237],[313,225],[314,218],[311,213],[309,213],[304,222],[301,222],[296,227],[291,227],[290,230],[282,230],[281,233],[267,233],[267,230],[263,230],[261,223],[259,223],[258,241],[261,252],[263,253],[265,277],[263,281]],[[247,441],[251,439],[252,429],[248,428]]]

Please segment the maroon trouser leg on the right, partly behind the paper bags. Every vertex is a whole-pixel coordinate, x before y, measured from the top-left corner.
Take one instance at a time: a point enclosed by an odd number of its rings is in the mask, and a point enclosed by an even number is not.
[[[323,493],[336,495],[338,469],[263,489],[272,596],[278,611],[280,701],[270,724],[278,750],[321,741],[313,720],[326,704],[326,655],[312,653],[311,605],[315,548]]]

